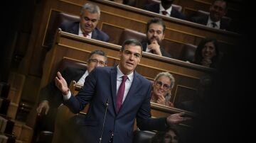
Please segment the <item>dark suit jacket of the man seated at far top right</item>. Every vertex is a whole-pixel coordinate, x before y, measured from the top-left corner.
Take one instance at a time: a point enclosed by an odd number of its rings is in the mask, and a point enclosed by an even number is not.
[[[208,22],[208,16],[196,16],[191,18],[191,22],[198,23],[202,25],[207,25]],[[220,20],[220,29],[228,30],[228,21]]]

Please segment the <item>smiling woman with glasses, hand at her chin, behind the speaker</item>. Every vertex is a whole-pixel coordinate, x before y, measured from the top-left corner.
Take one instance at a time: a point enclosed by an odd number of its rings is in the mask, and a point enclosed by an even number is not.
[[[174,87],[174,76],[169,72],[160,72],[156,75],[151,92],[151,102],[174,107],[171,103],[171,88]]]

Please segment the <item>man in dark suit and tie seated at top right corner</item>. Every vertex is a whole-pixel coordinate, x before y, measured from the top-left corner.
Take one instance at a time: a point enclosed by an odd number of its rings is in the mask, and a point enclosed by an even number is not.
[[[196,16],[191,18],[191,22],[206,25],[210,28],[228,30],[228,21],[223,21],[223,16],[227,13],[228,5],[226,1],[215,0],[209,8],[209,16]]]

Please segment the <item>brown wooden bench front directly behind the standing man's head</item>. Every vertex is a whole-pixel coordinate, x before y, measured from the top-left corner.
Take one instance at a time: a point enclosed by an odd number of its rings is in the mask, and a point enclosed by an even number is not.
[[[106,52],[109,62],[108,66],[113,66],[119,61],[118,54],[121,48],[119,45],[87,39],[61,31],[58,33],[56,40],[58,41],[55,42],[53,49],[50,50],[46,57],[41,87],[48,84],[51,80],[50,76],[55,74],[53,72],[56,71],[56,67],[58,67],[58,64],[60,64],[63,58],[85,61],[87,55],[89,55],[92,50],[97,49]],[[142,53],[142,60],[136,70],[147,79],[154,79],[156,74],[160,71],[169,71],[173,74],[176,79],[176,84],[171,91],[173,95],[171,100],[174,101],[174,103],[176,103],[175,100],[178,96],[181,95],[180,91],[183,90],[183,88],[178,88],[179,86],[194,88],[196,90],[199,86],[201,76],[211,75],[215,72],[213,69],[201,67],[196,64],[159,57],[158,55],[152,55],[146,52]],[[178,88],[178,90],[176,88]],[[188,96],[189,94],[190,93],[188,93]]]

